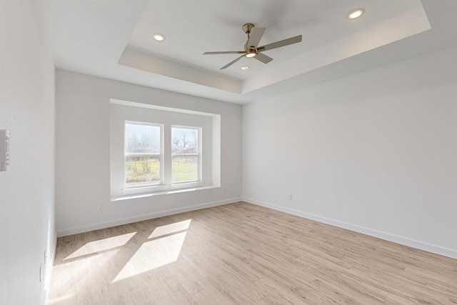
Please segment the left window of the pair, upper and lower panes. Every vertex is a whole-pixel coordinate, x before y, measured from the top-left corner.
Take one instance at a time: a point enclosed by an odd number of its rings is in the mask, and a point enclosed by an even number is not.
[[[162,184],[161,126],[126,122],[125,124],[125,186]]]

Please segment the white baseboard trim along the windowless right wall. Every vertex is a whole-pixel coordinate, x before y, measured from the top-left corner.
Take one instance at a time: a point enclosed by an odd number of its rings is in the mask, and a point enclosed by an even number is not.
[[[258,206],[263,206],[263,207],[266,207],[268,209],[281,211],[281,212],[284,212],[284,213],[287,213],[287,214],[292,214],[292,215],[300,216],[300,217],[303,217],[303,218],[306,218],[306,219],[311,219],[313,221],[318,221],[318,222],[321,222],[323,224],[329,224],[331,226],[337,226],[338,228],[347,229],[349,231],[354,231],[354,232],[357,232],[357,233],[361,233],[361,234],[366,234],[366,235],[369,235],[369,236],[377,237],[378,239],[383,239],[383,240],[386,240],[386,241],[392,241],[392,242],[394,242],[396,244],[401,244],[403,246],[411,246],[412,248],[415,248],[415,249],[428,251],[428,252],[431,252],[431,253],[434,253],[434,254],[439,254],[439,255],[442,255],[442,256],[447,256],[447,257],[450,257],[451,259],[457,259],[457,250],[448,249],[448,248],[445,248],[445,247],[442,247],[442,246],[436,246],[436,245],[433,245],[433,244],[427,244],[427,243],[424,243],[422,241],[416,241],[416,240],[413,240],[413,239],[408,239],[406,237],[397,236],[397,235],[393,235],[393,234],[388,234],[388,233],[381,232],[381,231],[376,231],[376,230],[373,230],[373,229],[368,229],[368,228],[363,227],[363,226],[356,226],[354,224],[347,224],[347,223],[342,222],[342,221],[337,221],[337,220],[328,219],[328,218],[322,217],[322,216],[317,216],[317,215],[313,215],[313,214],[304,213],[302,211],[298,211],[298,210],[295,210],[295,209],[288,209],[288,208],[285,208],[283,206],[276,206],[274,204],[268,204],[266,202],[258,201],[256,199],[243,198],[242,200],[245,201],[245,202],[248,202],[249,204],[256,204]]]

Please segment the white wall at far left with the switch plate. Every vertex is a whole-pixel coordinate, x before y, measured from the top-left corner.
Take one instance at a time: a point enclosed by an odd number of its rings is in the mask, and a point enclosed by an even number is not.
[[[54,261],[54,62],[40,7],[0,1],[0,129],[11,132],[11,165],[0,172],[0,304],[44,304]]]

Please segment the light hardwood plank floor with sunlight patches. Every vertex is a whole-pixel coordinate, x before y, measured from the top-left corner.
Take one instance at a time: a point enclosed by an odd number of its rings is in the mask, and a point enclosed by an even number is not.
[[[238,202],[59,238],[49,304],[457,304],[457,260]]]

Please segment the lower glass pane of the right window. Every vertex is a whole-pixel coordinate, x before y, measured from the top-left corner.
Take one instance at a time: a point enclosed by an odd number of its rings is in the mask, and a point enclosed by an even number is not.
[[[171,182],[199,181],[199,156],[173,156]]]

